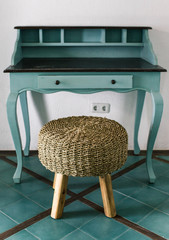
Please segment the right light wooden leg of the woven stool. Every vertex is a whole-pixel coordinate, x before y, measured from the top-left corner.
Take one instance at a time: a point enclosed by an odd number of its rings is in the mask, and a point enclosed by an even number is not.
[[[107,174],[104,177],[99,177],[99,181],[103,199],[104,213],[109,218],[115,217],[116,207],[113,197],[111,175]]]

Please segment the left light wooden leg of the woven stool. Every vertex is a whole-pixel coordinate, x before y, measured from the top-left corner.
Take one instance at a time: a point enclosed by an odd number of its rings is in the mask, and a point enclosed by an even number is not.
[[[55,173],[56,175],[56,173]],[[68,176],[63,174],[57,174],[57,182],[55,183],[55,191],[53,196],[53,204],[51,217],[61,218],[63,213],[63,208],[65,205],[65,197],[67,192]]]

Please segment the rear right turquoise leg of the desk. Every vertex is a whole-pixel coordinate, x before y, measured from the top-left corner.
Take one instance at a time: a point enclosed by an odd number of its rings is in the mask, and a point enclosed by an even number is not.
[[[138,132],[140,127],[145,94],[146,92],[143,90],[137,91],[136,117],[135,117],[135,126],[134,126],[134,154],[135,155],[138,155],[140,153],[140,147],[138,144]]]

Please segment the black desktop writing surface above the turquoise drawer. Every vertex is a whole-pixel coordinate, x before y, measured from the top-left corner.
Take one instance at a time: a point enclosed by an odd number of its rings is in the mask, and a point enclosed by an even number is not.
[[[141,58],[23,58],[4,72],[166,72]]]

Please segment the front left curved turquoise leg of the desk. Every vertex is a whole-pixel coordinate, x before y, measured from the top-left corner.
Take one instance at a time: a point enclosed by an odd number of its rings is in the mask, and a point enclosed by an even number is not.
[[[13,142],[16,149],[16,156],[17,156],[17,168],[13,176],[13,179],[15,183],[20,183],[21,172],[22,172],[22,145],[21,145],[21,137],[20,137],[17,113],[16,113],[17,98],[18,98],[18,93],[9,94],[9,97],[7,100],[7,115],[8,115],[8,122],[11,129]]]

